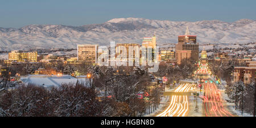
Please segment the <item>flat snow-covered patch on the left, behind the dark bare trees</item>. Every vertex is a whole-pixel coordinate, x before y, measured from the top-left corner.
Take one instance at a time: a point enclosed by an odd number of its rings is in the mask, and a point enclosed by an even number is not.
[[[86,82],[87,79],[77,79],[70,75],[63,75],[63,76],[56,76],[56,75],[28,75],[23,76],[20,78],[25,84],[35,84],[39,86],[44,86],[46,88],[51,86],[60,86],[61,84],[68,84],[68,83],[76,83],[79,82]]]

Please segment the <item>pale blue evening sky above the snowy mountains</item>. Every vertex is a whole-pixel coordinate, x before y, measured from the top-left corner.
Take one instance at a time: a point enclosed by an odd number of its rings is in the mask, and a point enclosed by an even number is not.
[[[174,21],[256,19],[255,0],[1,0],[0,27],[28,24],[81,26],[113,18]]]

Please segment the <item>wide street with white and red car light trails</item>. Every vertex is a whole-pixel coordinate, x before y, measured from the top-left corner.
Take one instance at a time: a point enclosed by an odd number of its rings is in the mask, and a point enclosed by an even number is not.
[[[225,108],[224,100],[221,97],[220,90],[217,85],[219,81],[214,81],[212,72],[208,68],[208,64],[199,64],[199,68],[195,71],[197,83],[196,88],[192,88],[193,84],[185,82],[180,84],[170,96],[170,104],[167,109],[163,110],[156,117],[185,117],[188,115],[189,110],[189,92],[195,92],[199,95],[193,97],[199,97],[201,99],[201,105],[203,106],[201,113],[206,117],[233,117],[229,110]],[[186,93],[187,92],[187,93]],[[194,94],[195,94],[194,93]],[[181,94],[181,95],[177,95]],[[189,114],[189,115],[193,115]]]

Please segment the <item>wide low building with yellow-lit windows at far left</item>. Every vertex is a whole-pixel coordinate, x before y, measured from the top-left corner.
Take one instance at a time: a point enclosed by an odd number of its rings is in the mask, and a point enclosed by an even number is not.
[[[38,58],[38,52],[20,52],[20,51],[11,51],[9,52],[9,60],[17,62],[36,62]]]

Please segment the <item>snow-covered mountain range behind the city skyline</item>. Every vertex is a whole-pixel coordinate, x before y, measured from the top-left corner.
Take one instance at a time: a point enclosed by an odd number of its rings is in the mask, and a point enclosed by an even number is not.
[[[84,26],[29,25],[22,28],[0,27],[0,50],[34,48],[76,48],[77,44],[109,45],[142,43],[144,36],[155,34],[158,45],[177,43],[188,26],[199,43],[256,42],[256,20],[240,19],[233,23],[220,20],[174,22],[143,18],[118,18]]]

